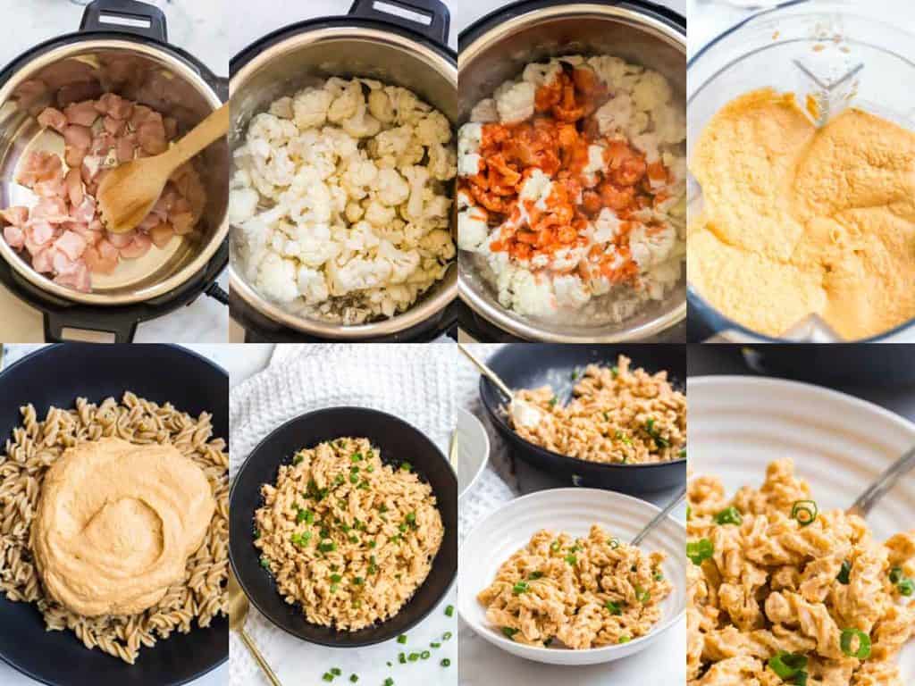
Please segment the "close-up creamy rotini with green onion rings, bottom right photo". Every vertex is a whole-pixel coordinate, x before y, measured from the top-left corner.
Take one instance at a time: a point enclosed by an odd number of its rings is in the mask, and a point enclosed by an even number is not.
[[[867,522],[820,511],[791,460],[759,490],[689,487],[690,686],[903,686],[915,632],[915,530],[877,541]]]

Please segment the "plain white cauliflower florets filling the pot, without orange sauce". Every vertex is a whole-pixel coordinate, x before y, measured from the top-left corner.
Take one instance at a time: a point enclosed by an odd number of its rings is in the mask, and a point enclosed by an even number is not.
[[[376,80],[278,98],[233,154],[242,273],[304,316],[351,325],[403,312],[455,256],[451,138],[444,114]]]

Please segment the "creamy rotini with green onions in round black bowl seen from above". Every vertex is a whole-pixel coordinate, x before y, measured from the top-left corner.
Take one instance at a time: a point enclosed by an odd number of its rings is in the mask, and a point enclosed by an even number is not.
[[[355,631],[396,615],[445,534],[432,488],[409,462],[383,464],[365,438],[299,451],[262,493],[261,564],[287,603],[326,627]]]

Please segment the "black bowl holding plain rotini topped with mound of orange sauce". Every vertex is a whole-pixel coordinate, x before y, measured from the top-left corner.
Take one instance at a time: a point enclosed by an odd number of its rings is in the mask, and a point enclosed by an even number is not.
[[[229,437],[229,377],[195,353],[173,346],[66,343],[41,348],[0,373],[0,442],[21,423],[19,407],[31,402],[39,418],[48,407],[70,408],[78,396],[102,402],[133,391],[183,412],[213,415],[213,432]],[[141,648],[135,665],[89,650],[70,631],[45,631],[30,603],[0,595],[0,658],[52,686],[178,686],[229,659],[229,622],[173,633]]]

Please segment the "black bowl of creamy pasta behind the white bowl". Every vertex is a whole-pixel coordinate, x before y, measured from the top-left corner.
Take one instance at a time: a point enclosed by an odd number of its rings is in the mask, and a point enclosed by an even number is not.
[[[650,373],[667,370],[674,387],[685,391],[686,348],[665,345],[560,346],[519,343],[502,348],[487,364],[511,389],[552,385],[556,395],[567,398],[575,381],[572,372],[588,364],[612,366],[623,354],[633,367]],[[479,397],[496,429],[509,442],[514,455],[551,476],[573,486],[608,488],[620,493],[648,493],[685,483],[686,458],[648,465],[618,465],[588,462],[559,455],[533,445],[516,434],[508,423],[501,392],[485,377],[479,379]]]

